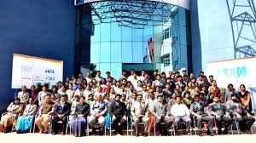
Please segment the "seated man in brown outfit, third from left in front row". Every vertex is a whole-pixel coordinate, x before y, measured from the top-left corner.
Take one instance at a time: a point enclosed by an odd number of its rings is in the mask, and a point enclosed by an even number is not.
[[[50,99],[50,94],[44,96],[44,102],[41,108],[38,110],[38,117],[35,120],[35,123],[40,130],[39,133],[48,133],[49,126],[49,116],[55,112],[55,103]],[[43,124],[44,123],[44,126]]]

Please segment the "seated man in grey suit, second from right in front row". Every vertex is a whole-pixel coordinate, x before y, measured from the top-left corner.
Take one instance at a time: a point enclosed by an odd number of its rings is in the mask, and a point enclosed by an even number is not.
[[[228,129],[232,123],[232,119],[226,111],[226,106],[224,106],[223,103],[220,103],[218,96],[215,96],[213,98],[213,103],[209,105],[209,112],[215,117],[218,126],[218,134],[222,134],[221,126],[223,122],[225,123],[224,134],[229,134]]]

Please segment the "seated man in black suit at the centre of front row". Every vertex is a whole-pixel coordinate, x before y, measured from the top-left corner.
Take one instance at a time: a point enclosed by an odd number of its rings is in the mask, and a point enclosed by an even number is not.
[[[113,129],[119,134],[124,134],[123,129],[126,124],[127,109],[124,102],[120,101],[121,95],[115,95],[115,101],[110,105],[109,114],[112,117]]]

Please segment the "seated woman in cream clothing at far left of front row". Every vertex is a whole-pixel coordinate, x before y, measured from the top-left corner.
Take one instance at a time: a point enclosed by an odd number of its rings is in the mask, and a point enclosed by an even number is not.
[[[7,113],[1,118],[0,126],[2,127],[4,133],[8,133],[16,117],[19,116],[22,110],[22,105],[20,104],[20,99],[18,97],[8,106]]]

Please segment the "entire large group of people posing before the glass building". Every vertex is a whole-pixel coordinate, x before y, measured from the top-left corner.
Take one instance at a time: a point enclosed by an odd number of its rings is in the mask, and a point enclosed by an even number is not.
[[[204,72],[197,78],[193,72],[188,76],[186,71],[169,72],[167,76],[155,70],[151,77],[145,71],[141,76],[133,69],[130,72],[128,76],[123,71],[119,79],[111,77],[110,72],[106,72],[105,78],[100,71],[96,77],[90,72],[86,77],[79,73],[78,79],[67,77],[64,83],[53,86],[51,92],[46,86],[37,92],[32,85],[28,93],[26,86],[22,86],[1,118],[0,131],[8,132],[15,124],[17,133],[26,133],[34,120],[39,133],[48,133],[51,123],[52,134],[56,134],[57,123],[61,121],[62,134],[66,134],[69,124],[75,136],[83,136],[87,124],[92,134],[96,134],[96,129],[103,134],[110,123],[115,134],[124,134],[126,123],[134,123],[136,136],[146,136],[152,130],[167,135],[172,127],[179,134],[183,123],[183,134],[197,128],[197,134],[202,135],[202,128],[207,127],[207,134],[213,135],[214,123],[218,134],[229,134],[233,120],[242,133],[255,122],[251,94],[243,84],[238,92],[230,83],[224,92],[213,76],[207,78]]]

